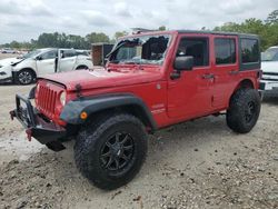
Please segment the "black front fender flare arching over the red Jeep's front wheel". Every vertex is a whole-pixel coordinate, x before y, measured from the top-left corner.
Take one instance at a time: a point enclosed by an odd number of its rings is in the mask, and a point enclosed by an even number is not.
[[[139,117],[146,126],[150,127],[151,131],[157,130],[157,123],[150,110],[140,98],[133,94],[106,94],[79,98],[64,106],[60,119],[70,125],[82,125],[86,120],[80,118],[81,112],[87,112],[88,116],[90,116],[103,110],[125,107],[136,108],[136,112],[139,112],[137,117]]]

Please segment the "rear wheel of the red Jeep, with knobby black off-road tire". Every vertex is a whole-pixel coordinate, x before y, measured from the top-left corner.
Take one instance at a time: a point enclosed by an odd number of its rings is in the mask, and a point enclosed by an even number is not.
[[[230,99],[226,121],[238,133],[249,132],[259,118],[260,97],[255,89],[239,89]]]

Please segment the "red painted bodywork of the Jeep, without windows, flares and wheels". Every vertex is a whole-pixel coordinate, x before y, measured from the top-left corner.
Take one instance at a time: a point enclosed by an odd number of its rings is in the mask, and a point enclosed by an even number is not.
[[[136,34],[137,36],[146,36]],[[152,64],[113,64],[105,68],[96,68],[90,71],[71,71],[50,74],[40,79],[40,86],[50,83],[50,88],[58,94],[62,86],[67,91],[67,101],[77,98],[76,86],[81,84],[81,94],[99,96],[105,93],[133,93],[141,98],[151,111],[158,128],[175,125],[202,116],[208,116],[226,110],[231,94],[242,80],[249,80],[258,88],[257,73],[259,69],[239,71],[239,54],[237,47],[237,61],[234,64],[216,66],[214,41],[216,36],[211,33],[178,33],[177,31],[152,32],[149,34],[171,34],[166,59],[162,66]],[[170,74],[175,72],[173,60],[177,53],[179,40],[185,37],[206,37],[209,40],[209,66],[196,67],[192,71],[182,71],[179,79],[172,80]],[[227,36],[225,36],[227,37]],[[236,40],[238,37],[229,36]],[[110,71],[108,71],[108,69]],[[231,73],[230,71],[238,71]],[[203,74],[215,74],[214,79],[203,79]],[[60,84],[52,84],[50,81]],[[57,87],[54,87],[57,86]],[[59,120],[62,107],[59,101],[54,113],[40,107],[40,97],[36,97],[38,109],[51,120]]]

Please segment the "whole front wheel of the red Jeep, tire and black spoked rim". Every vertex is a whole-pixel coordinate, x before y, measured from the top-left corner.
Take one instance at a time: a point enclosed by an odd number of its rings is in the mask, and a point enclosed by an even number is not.
[[[147,153],[143,125],[130,115],[96,120],[80,131],[75,159],[95,186],[111,190],[128,183],[140,170]]]

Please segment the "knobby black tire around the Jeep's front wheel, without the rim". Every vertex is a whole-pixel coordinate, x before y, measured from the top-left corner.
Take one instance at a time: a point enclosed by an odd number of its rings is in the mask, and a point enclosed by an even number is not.
[[[101,150],[109,138],[118,132],[131,137],[133,153],[123,168],[111,171],[101,165]],[[147,132],[139,119],[126,113],[105,116],[96,118],[80,130],[75,146],[75,160],[80,172],[96,187],[112,190],[128,183],[139,172],[146,159],[147,147]]]

